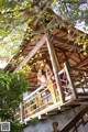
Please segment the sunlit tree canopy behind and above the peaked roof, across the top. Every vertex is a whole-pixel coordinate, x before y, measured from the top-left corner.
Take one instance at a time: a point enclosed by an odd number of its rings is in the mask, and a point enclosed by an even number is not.
[[[87,7],[87,0],[0,0],[0,56],[6,59],[21,52],[19,47],[26,34],[28,24],[31,32],[32,26],[43,20],[42,14],[46,8],[56,10],[59,16],[73,25],[78,21],[87,25],[88,10],[84,6]]]

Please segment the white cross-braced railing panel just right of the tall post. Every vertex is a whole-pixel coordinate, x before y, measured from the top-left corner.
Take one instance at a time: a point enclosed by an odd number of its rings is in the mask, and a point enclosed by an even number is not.
[[[69,101],[70,99],[76,98],[76,90],[74,88],[74,84],[70,78],[70,73],[66,64],[64,64],[64,68],[58,73],[61,86],[63,88],[64,102]]]

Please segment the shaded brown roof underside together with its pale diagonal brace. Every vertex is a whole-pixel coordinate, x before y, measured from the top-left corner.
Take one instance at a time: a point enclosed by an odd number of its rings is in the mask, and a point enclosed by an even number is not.
[[[53,31],[48,34],[50,41],[54,46],[56,57],[58,61],[58,70],[63,68],[63,64],[65,62],[67,62],[73,67],[88,69],[88,56],[85,56],[82,53],[80,53],[81,47],[75,44],[78,34],[82,32],[68,25],[54,12],[53,15],[56,19],[56,21],[61,21],[65,25],[63,28],[58,26],[53,29]],[[19,65],[11,66],[9,64],[6,67],[6,69],[10,72],[16,72],[23,66],[23,63],[28,63],[30,66],[32,66],[32,73],[30,73],[29,75],[29,80],[30,81],[34,80],[34,85],[36,84],[37,73],[34,63],[44,59],[51,63],[51,57],[46,44],[46,34],[44,33],[44,29],[45,26],[43,25],[37,29],[35,41],[30,41],[30,34],[26,34],[21,44],[22,52],[14,56],[14,59],[18,59],[19,56],[22,55],[24,56],[24,59]],[[29,38],[26,38],[26,36]],[[40,57],[38,51],[42,54],[42,56]]]

